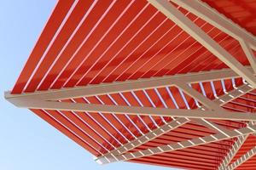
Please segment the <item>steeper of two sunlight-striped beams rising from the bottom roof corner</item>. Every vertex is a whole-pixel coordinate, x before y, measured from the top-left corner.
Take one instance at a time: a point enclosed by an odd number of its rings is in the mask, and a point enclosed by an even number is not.
[[[224,94],[222,96],[219,96],[218,99],[214,99],[213,102],[218,105],[224,105],[226,103],[229,103],[232,99],[238,98],[239,96],[246,94],[247,92],[251,91],[253,88],[242,85],[238,88],[233,89],[229,92],[229,94]],[[232,97],[231,97],[232,96]],[[203,108],[203,107],[202,107]],[[183,124],[189,122],[189,119],[187,118],[177,118],[176,120],[173,120],[172,122],[168,122],[165,125],[160,126],[159,128],[154,129],[152,132],[146,133],[143,136],[132,140],[131,142],[127,144],[123,144],[116,150],[111,150],[109,153],[105,154],[104,156],[118,156],[119,154],[122,154],[124,152],[127,152],[128,150],[132,150],[136,148],[137,146],[141,144],[145,144],[148,141],[155,139],[157,137],[160,137],[160,135],[164,133],[170,132],[170,130],[175,129],[177,127],[182,126]],[[168,128],[169,127],[169,128]],[[154,133],[156,135],[154,135]],[[227,131],[224,131],[224,133],[228,133]],[[153,135],[152,135],[153,134]],[[229,134],[230,135],[230,134]],[[101,159],[104,156],[100,156],[97,159]]]

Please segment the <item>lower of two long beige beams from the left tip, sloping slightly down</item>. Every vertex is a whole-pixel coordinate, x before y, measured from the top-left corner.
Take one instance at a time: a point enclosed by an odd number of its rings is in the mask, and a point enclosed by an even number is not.
[[[234,120],[234,121],[256,121],[256,115],[241,112],[230,111],[201,111],[201,110],[184,110],[184,109],[166,109],[154,107],[126,106],[126,105],[98,105],[98,104],[82,104],[58,101],[44,101],[38,99],[9,99],[17,107],[29,109],[44,109],[58,111],[90,111],[102,113],[115,113],[127,115],[143,115],[143,116],[175,116],[188,118],[204,118],[218,120]],[[206,114],[207,112],[207,114]]]

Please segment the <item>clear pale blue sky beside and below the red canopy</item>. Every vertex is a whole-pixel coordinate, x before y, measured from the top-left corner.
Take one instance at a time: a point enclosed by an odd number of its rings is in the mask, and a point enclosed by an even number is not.
[[[13,88],[55,1],[1,0],[0,3],[0,169],[166,169],[127,162],[98,165],[86,150],[47,122],[5,101],[3,91]]]

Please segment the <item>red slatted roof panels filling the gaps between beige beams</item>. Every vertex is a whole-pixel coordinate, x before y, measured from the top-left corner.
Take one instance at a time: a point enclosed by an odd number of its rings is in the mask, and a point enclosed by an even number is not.
[[[234,19],[237,24],[245,26],[247,31],[255,33],[256,24],[253,25],[254,21],[249,20],[253,17],[251,9],[243,10],[244,13],[250,13],[247,18],[235,20],[236,10],[234,12],[232,9],[227,9],[224,3],[221,3],[224,1],[206,2],[231,20]],[[241,1],[227,0],[226,2],[232,3],[233,6],[230,8],[240,8],[240,6],[256,8],[255,3],[249,1],[237,3]],[[249,65],[239,42],[234,38],[183,8],[179,10],[229,51],[242,65]],[[175,23],[166,19],[146,0],[59,1],[21,71],[12,94],[223,68],[227,68],[223,62]],[[206,93],[209,99],[214,99],[214,91],[218,96],[222,95],[224,90],[232,90],[234,83],[236,87],[243,84],[241,78],[237,78],[223,82],[196,83],[192,84],[192,87],[202,94]],[[197,108],[195,99],[174,87],[68,99],[65,102]],[[245,94],[223,107],[230,111],[255,112],[256,92]],[[172,121],[170,117],[160,116],[32,111],[95,156],[101,156],[108,150],[113,150],[143,133],[148,133],[164,122]],[[245,122],[213,122],[231,129],[245,126]],[[131,151],[212,133],[215,132],[207,127],[189,122]],[[131,161],[166,167],[215,169],[234,141],[235,139],[228,139]],[[250,162],[248,161],[248,164]]]

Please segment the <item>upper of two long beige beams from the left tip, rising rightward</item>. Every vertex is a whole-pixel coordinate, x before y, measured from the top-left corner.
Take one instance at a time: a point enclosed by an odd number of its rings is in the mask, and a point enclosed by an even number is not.
[[[253,71],[252,67],[247,67]],[[239,77],[236,72],[230,69],[219,71],[201,71],[197,73],[178,74],[166,77],[144,78],[136,81],[110,82],[97,85],[88,85],[85,87],[61,88],[55,90],[38,91],[34,93],[10,94],[6,93],[5,98],[30,98],[44,100],[59,100],[86,97],[101,94],[114,94],[127,92],[131,90],[140,90],[147,88],[160,88],[173,85],[173,82],[208,82],[219,79],[228,79]]]

